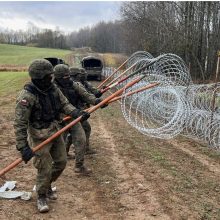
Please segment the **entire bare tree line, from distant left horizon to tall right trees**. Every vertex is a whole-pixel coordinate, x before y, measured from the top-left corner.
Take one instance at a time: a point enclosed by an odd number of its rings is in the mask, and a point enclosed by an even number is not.
[[[220,2],[123,2],[120,19],[64,34],[39,29],[4,31],[0,43],[69,49],[91,47],[97,52],[132,54],[145,50],[154,56],[175,53],[196,79],[214,78],[220,50]]]

